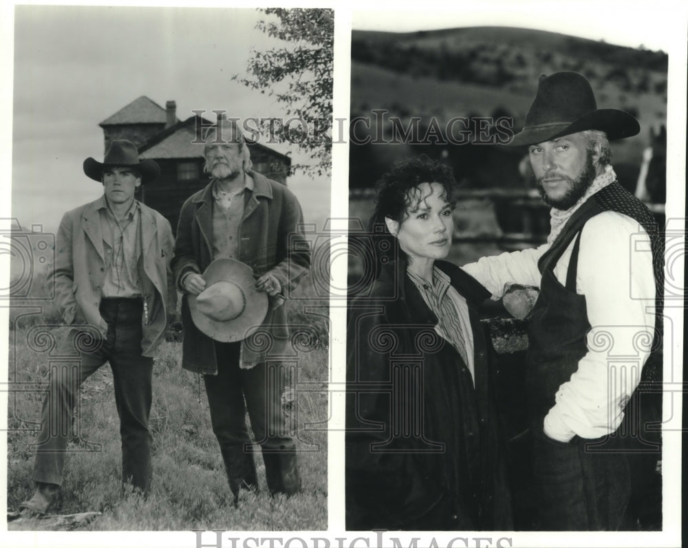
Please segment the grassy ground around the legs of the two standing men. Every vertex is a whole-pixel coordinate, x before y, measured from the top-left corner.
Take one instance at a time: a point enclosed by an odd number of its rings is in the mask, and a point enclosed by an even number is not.
[[[304,321],[299,308],[293,306],[290,320]],[[17,325],[10,330],[10,382],[28,383],[25,386],[30,388],[31,384],[47,381],[51,338],[60,340],[67,328],[45,329],[46,334],[39,339],[34,335],[36,329],[41,329],[36,326],[53,320],[49,308],[45,314],[17,319]],[[300,450],[301,494],[271,497],[258,452],[260,491],[242,492],[238,507],[233,507],[202,380],[181,368],[182,343],[167,341],[161,344],[153,369],[153,483],[149,497],[144,500],[122,493],[119,420],[112,375],[106,364],[81,388],[80,416],[74,421],[69,444],[72,454],[65,467],[62,501],[55,512],[102,512],[81,530],[327,529],[327,327],[318,320],[311,319],[310,324],[319,327],[323,336],[299,347],[295,362],[298,384],[292,383],[283,396]],[[36,390],[10,393],[9,510],[17,509],[34,489],[30,444],[36,437],[42,397]],[[21,528],[42,528],[41,520],[31,522]]]

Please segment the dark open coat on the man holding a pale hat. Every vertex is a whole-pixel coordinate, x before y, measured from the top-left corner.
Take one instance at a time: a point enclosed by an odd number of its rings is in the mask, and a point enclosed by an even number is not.
[[[239,226],[239,261],[253,269],[256,276],[271,272],[288,295],[297,280],[310,266],[310,248],[299,225],[303,214],[299,201],[286,186],[255,171],[254,189],[246,194],[244,217]],[[172,271],[180,290],[186,272],[202,274],[213,262],[213,183],[184,202],[179,217]],[[182,297],[184,344],[182,366],[195,373],[217,374],[213,339],[199,331],[191,320],[186,294]],[[253,335],[251,344],[257,356],[250,362],[265,362],[270,355],[283,353],[289,338],[284,306],[270,307],[262,329]],[[264,344],[264,343],[268,344]],[[244,351],[249,345],[244,344]],[[246,355],[244,353],[244,355]]]

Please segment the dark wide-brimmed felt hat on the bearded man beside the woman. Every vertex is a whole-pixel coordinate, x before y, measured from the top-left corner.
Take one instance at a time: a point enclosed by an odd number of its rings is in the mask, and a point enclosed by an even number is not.
[[[590,82],[582,74],[541,74],[524,127],[508,145],[537,144],[588,129],[604,131],[609,140],[632,137],[641,131],[638,120],[629,113],[598,109]]]

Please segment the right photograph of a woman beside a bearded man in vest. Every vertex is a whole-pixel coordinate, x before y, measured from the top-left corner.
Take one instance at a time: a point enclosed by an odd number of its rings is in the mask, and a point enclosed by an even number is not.
[[[676,527],[669,41],[590,6],[352,15],[347,529]]]

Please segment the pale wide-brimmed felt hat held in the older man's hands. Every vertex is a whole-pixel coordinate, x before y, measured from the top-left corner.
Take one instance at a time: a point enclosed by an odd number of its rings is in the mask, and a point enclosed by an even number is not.
[[[220,342],[244,340],[268,314],[268,296],[255,288],[250,266],[235,259],[217,259],[202,274],[206,288],[189,295],[194,325]]]

